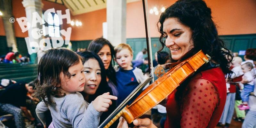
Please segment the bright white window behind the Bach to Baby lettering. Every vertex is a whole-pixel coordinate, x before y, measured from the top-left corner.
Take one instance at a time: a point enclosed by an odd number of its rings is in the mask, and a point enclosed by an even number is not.
[[[43,25],[44,36],[49,34],[51,37],[60,37],[59,16],[56,13],[48,13],[48,32]]]

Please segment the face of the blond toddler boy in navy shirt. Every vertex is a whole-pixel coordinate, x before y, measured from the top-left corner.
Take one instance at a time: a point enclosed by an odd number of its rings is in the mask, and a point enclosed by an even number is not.
[[[128,49],[123,49],[116,53],[116,62],[124,70],[131,70],[132,54]]]

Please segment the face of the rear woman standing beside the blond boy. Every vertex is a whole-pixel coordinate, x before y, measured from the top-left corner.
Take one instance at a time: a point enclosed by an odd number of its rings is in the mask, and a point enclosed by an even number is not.
[[[104,45],[97,54],[100,56],[100,59],[102,60],[105,69],[108,69],[112,59],[109,46]]]

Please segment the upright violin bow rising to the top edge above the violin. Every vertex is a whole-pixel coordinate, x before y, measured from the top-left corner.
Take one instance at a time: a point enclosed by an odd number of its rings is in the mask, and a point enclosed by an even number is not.
[[[149,74],[153,72],[153,60],[152,60],[152,47],[151,47],[151,38],[149,33],[149,20],[148,20],[148,0],[142,0],[143,12],[144,12],[144,22],[145,22],[145,30],[146,30],[146,41],[147,41],[147,52],[148,52],[148,69]],[[154,81],[154,74],[151,74]],[[150,81],[151,84],[151,81]]]

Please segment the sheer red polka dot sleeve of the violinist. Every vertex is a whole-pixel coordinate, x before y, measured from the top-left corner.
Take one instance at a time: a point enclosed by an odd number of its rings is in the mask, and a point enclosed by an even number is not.
[[[200,78],[191,80],[181,102],[181,128],[206,128],[218,101],[211,82]]]

